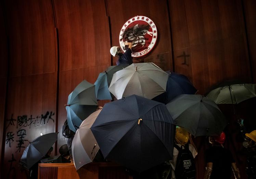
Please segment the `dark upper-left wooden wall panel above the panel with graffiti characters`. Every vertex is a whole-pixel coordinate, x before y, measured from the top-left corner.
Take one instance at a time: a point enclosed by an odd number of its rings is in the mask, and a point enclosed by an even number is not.
[[[55,72],[56,33],[51,0],[6,0],[5,9],[10,76]]]

